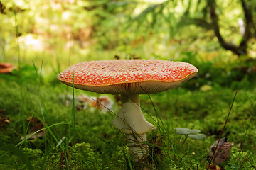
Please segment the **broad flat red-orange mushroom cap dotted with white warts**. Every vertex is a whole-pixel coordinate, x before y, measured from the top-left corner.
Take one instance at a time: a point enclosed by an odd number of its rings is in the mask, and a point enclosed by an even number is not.
[[[154,94],[174,88],[196,75],[186,62],[166,60],[103,60],[80,62],[58,75],[77,89],[99,94]]]

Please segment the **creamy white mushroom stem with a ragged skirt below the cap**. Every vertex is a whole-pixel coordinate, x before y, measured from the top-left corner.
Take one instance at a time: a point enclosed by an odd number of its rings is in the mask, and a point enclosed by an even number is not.
[[[139,161],[144,157],[149,148],[144,144],[136,142],[146,142],[146,132],[154,128],[154,125],[146,121],[139,106],[139,94],[121,95],[122,108],[117,113],[117,118],[113,120],[116,128],[127,133],[129,150],[136,156],[134,161]]]

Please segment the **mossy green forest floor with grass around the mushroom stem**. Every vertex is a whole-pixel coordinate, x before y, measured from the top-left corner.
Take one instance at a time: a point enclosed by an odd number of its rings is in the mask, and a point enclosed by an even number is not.
[[[115,96],[108,96],[113,103],[109,106],[111,112],[89,105],[82,109],[79,102],[73,108],[73,88],[61,84],[57,78],[47,81],[41,77],[39,81],[40,74],[33,69],[23,67],[22,84],[18,72],[0,77],[0,169],[141,169],[142,166],[206,169],[210,164],[214,164],[212,169],[250,169],[256,166],[256,88],[250,81],[238,81],[237,84],[248,86],[238,90],[234,103],[235,88],[218,84],[194,86],[193,81],[200,77],[191,79],[192,85],[188,81],[176,89],[141,95],[144,116],[157,128],[147,133],[150,154],[144,162],[133,162],[124,135],[112,125],[114,113],[120,108]],[[81,94],[100,97],[74,89],[75,98]],[[175,128],[200,130],[206,138],[196,140],[176,134]],[[221,138],[225,140],[210,162],[210,147],[222,131]],[[31,136],[24,139],[25,135]]]

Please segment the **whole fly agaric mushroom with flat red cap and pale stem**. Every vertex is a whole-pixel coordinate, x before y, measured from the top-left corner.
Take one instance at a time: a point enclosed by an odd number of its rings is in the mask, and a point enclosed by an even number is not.
[[[81,62],[65,69],[58,79],[68,86],[99,94],[121,94],[122,108],[113,125],[127,134],[130,152],[139,161],[149,152],[146,132],[154,128],[139,106],[139,94],[154,94],[174,88],[196,75],[186,62],[166,60],[103,60]],[[74,79],[73,79],[74,75]]]

